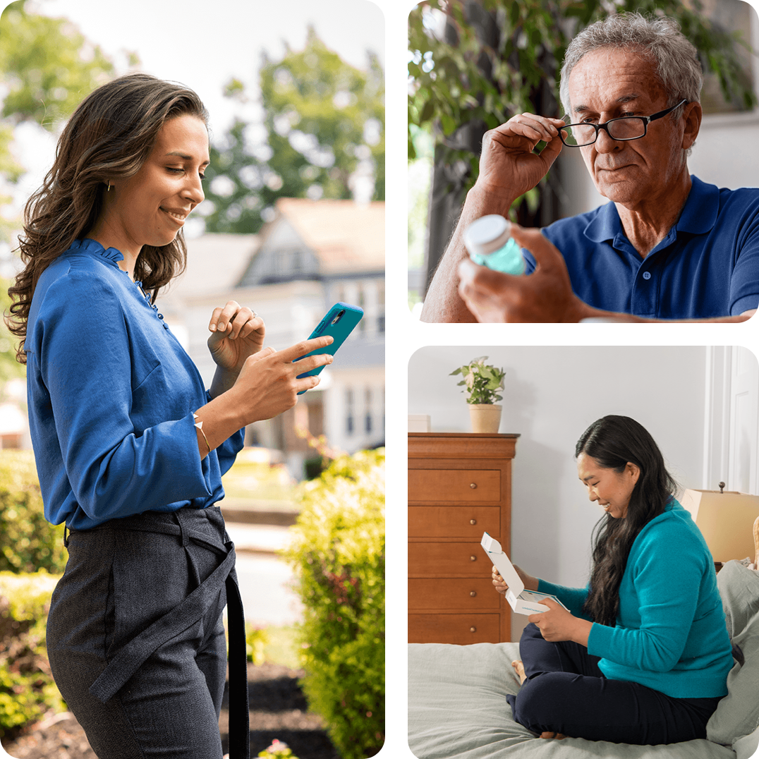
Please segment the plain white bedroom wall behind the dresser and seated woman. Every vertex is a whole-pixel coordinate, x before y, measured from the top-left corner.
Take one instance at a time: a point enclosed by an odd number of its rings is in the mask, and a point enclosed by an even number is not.
[[[706,346],[425,345],[408,361],[408,413],[430,414],[433,432],[471,432],[461,376],[449,373],[478,356],[506,373],[499,432],[521,434],[512,558],[531,574],[587,583],[591,531],[603,511],[578,480],[575,443],[598,418],[638,420],[673,476],[703,487]]]

